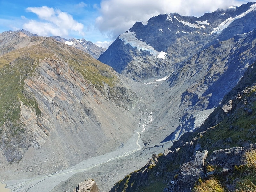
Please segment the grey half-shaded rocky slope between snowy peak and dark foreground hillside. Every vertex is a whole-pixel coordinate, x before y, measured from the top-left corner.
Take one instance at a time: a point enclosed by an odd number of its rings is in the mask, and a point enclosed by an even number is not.
[[[209,115],[204,110],[218,106],[256,59],[255,35],[254,30],[208,47],[154,89],[156,105],[160,107],[154,108],[152,127],[166,129],[159,139],[169,135],[162,142],[178,139],[200,126]]]

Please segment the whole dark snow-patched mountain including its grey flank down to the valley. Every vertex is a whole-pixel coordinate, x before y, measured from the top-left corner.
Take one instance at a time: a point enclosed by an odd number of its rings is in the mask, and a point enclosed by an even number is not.
[[[248,3],[200,18],[152,17],[119,35],[99,57],[139,84],[165,77],[153,88],[153,99],[146,99],[154,117],[145,133],[147,144],[192,132],[237,84],[256,60],[255,10],[256,4]]]

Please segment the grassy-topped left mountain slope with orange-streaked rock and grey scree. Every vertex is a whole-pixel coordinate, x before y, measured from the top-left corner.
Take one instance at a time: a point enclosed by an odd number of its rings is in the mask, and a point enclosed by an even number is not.
[[[9,163],[19,161],[30,147],[41,148],[52,133],[60,151],[70,141],[67,148],[81,150],[82,156],[100,154],[104,146],[99,144],[115,147],[129,137],[133,123],[123,133],[115,129],[133,119],[125,109],[137,96],[111,67],[50,37],[4,32],[0,43],[0,148]],[[70,140],[61,140],[67,135]]]

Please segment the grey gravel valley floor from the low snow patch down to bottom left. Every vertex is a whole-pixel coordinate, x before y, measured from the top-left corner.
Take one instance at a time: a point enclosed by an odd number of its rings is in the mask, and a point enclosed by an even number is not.
[[[133,136],[122,147],[113,152],[86,159],[68,169],[52,172],[52,174],[36,175],[30,170],[22,170],[22,166],[17,164],[16,168],[12,170],[1,171],[1,175],[5,177],[1,177],[0,180],[7,184],[7,188],[15,192],[41,191],[42,189],[45,192],[63,192],[72,191],[80,182],[92,178],[101,192],[109,191],[125,175],[147,164],[148,158],[152,154],[163,153],[164,149],[172,146],[171,141],[160,144],[163,134],[166,136],[166,133],[152,126],[157,97],[154,95],[154,89],[164,83],[164,80],[151,79],[143,83],[126,82],[136,92],[140,100],[140,105],[131,110],[134,110],[134,114],[140,114],[141,122],[138,123],[138,128]],[[29,162],[27,163],[29,164]],[[51,162],[45,162],[46,169],[47,164],[51,164]]]

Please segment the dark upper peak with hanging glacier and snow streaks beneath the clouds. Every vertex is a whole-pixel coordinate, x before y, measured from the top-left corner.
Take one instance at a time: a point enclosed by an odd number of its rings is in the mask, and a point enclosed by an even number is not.
[[[254,30],[255,8],[248,3],[200,18],[172,13],[136,22],[99,60],[135,81],[163,77],[210,45]]]

